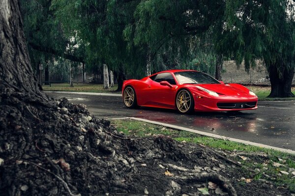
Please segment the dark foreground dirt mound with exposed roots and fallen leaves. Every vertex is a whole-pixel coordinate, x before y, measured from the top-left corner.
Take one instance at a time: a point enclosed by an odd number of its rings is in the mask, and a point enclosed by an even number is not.
[[[2,100],[3,101],[3,100]],[[210,148],[126,137],[85,105],[0,107],[0,195],[288,195]]]

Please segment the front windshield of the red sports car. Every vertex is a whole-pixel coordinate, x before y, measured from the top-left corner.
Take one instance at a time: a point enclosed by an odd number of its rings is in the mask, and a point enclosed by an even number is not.
[[[220,84],[210,75],[202,72],[176,72],[174,73],[179,84]]]

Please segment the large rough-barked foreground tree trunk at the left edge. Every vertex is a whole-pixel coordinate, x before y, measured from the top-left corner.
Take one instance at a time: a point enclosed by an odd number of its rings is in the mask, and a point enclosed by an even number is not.
[[[49,99],[40,91],[41,86],[30,66],[23,22],[16,0],[0,0],[0,29],[1,102],[3,98],[9,98],[9,102],[13,96],[32,102],[47,102]]]

